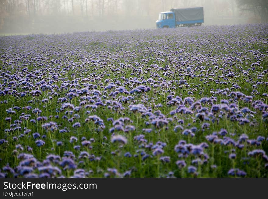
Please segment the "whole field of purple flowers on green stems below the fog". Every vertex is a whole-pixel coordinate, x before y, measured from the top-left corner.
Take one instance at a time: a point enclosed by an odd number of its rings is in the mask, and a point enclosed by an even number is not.
[[[268,24],[0,37],[1,177],[268,177]]]

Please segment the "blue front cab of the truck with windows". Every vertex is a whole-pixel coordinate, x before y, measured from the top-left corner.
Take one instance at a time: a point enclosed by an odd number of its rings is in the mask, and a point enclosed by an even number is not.
[[[160,12],[158,16],[158,20],[156,21],[157,28],[175,28],[176,27],[176,20],[175,20],[175,13],[168,11],[168,12]]]

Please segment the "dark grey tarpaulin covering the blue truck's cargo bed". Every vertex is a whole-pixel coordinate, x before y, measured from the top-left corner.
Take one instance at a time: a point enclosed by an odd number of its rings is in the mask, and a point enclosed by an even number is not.
[[[204,19],[203,7],[170,9],[170,11],[175,12],[176,21],[192,21]]]

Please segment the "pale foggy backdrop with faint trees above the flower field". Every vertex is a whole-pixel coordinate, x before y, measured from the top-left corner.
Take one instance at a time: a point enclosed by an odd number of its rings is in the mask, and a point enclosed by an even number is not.
[[[204,7],[203,25],[267,22],[267,0],[1,0],[0,33],[155,28],[158,13]]]

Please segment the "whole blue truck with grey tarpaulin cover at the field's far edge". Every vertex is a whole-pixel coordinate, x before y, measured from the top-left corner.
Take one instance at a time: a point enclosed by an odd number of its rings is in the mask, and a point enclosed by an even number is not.
[[[170,9],[168,12],[159,13],[156,27],[175,28],[181,26],[201,26],[203,22],[203,7]]]

